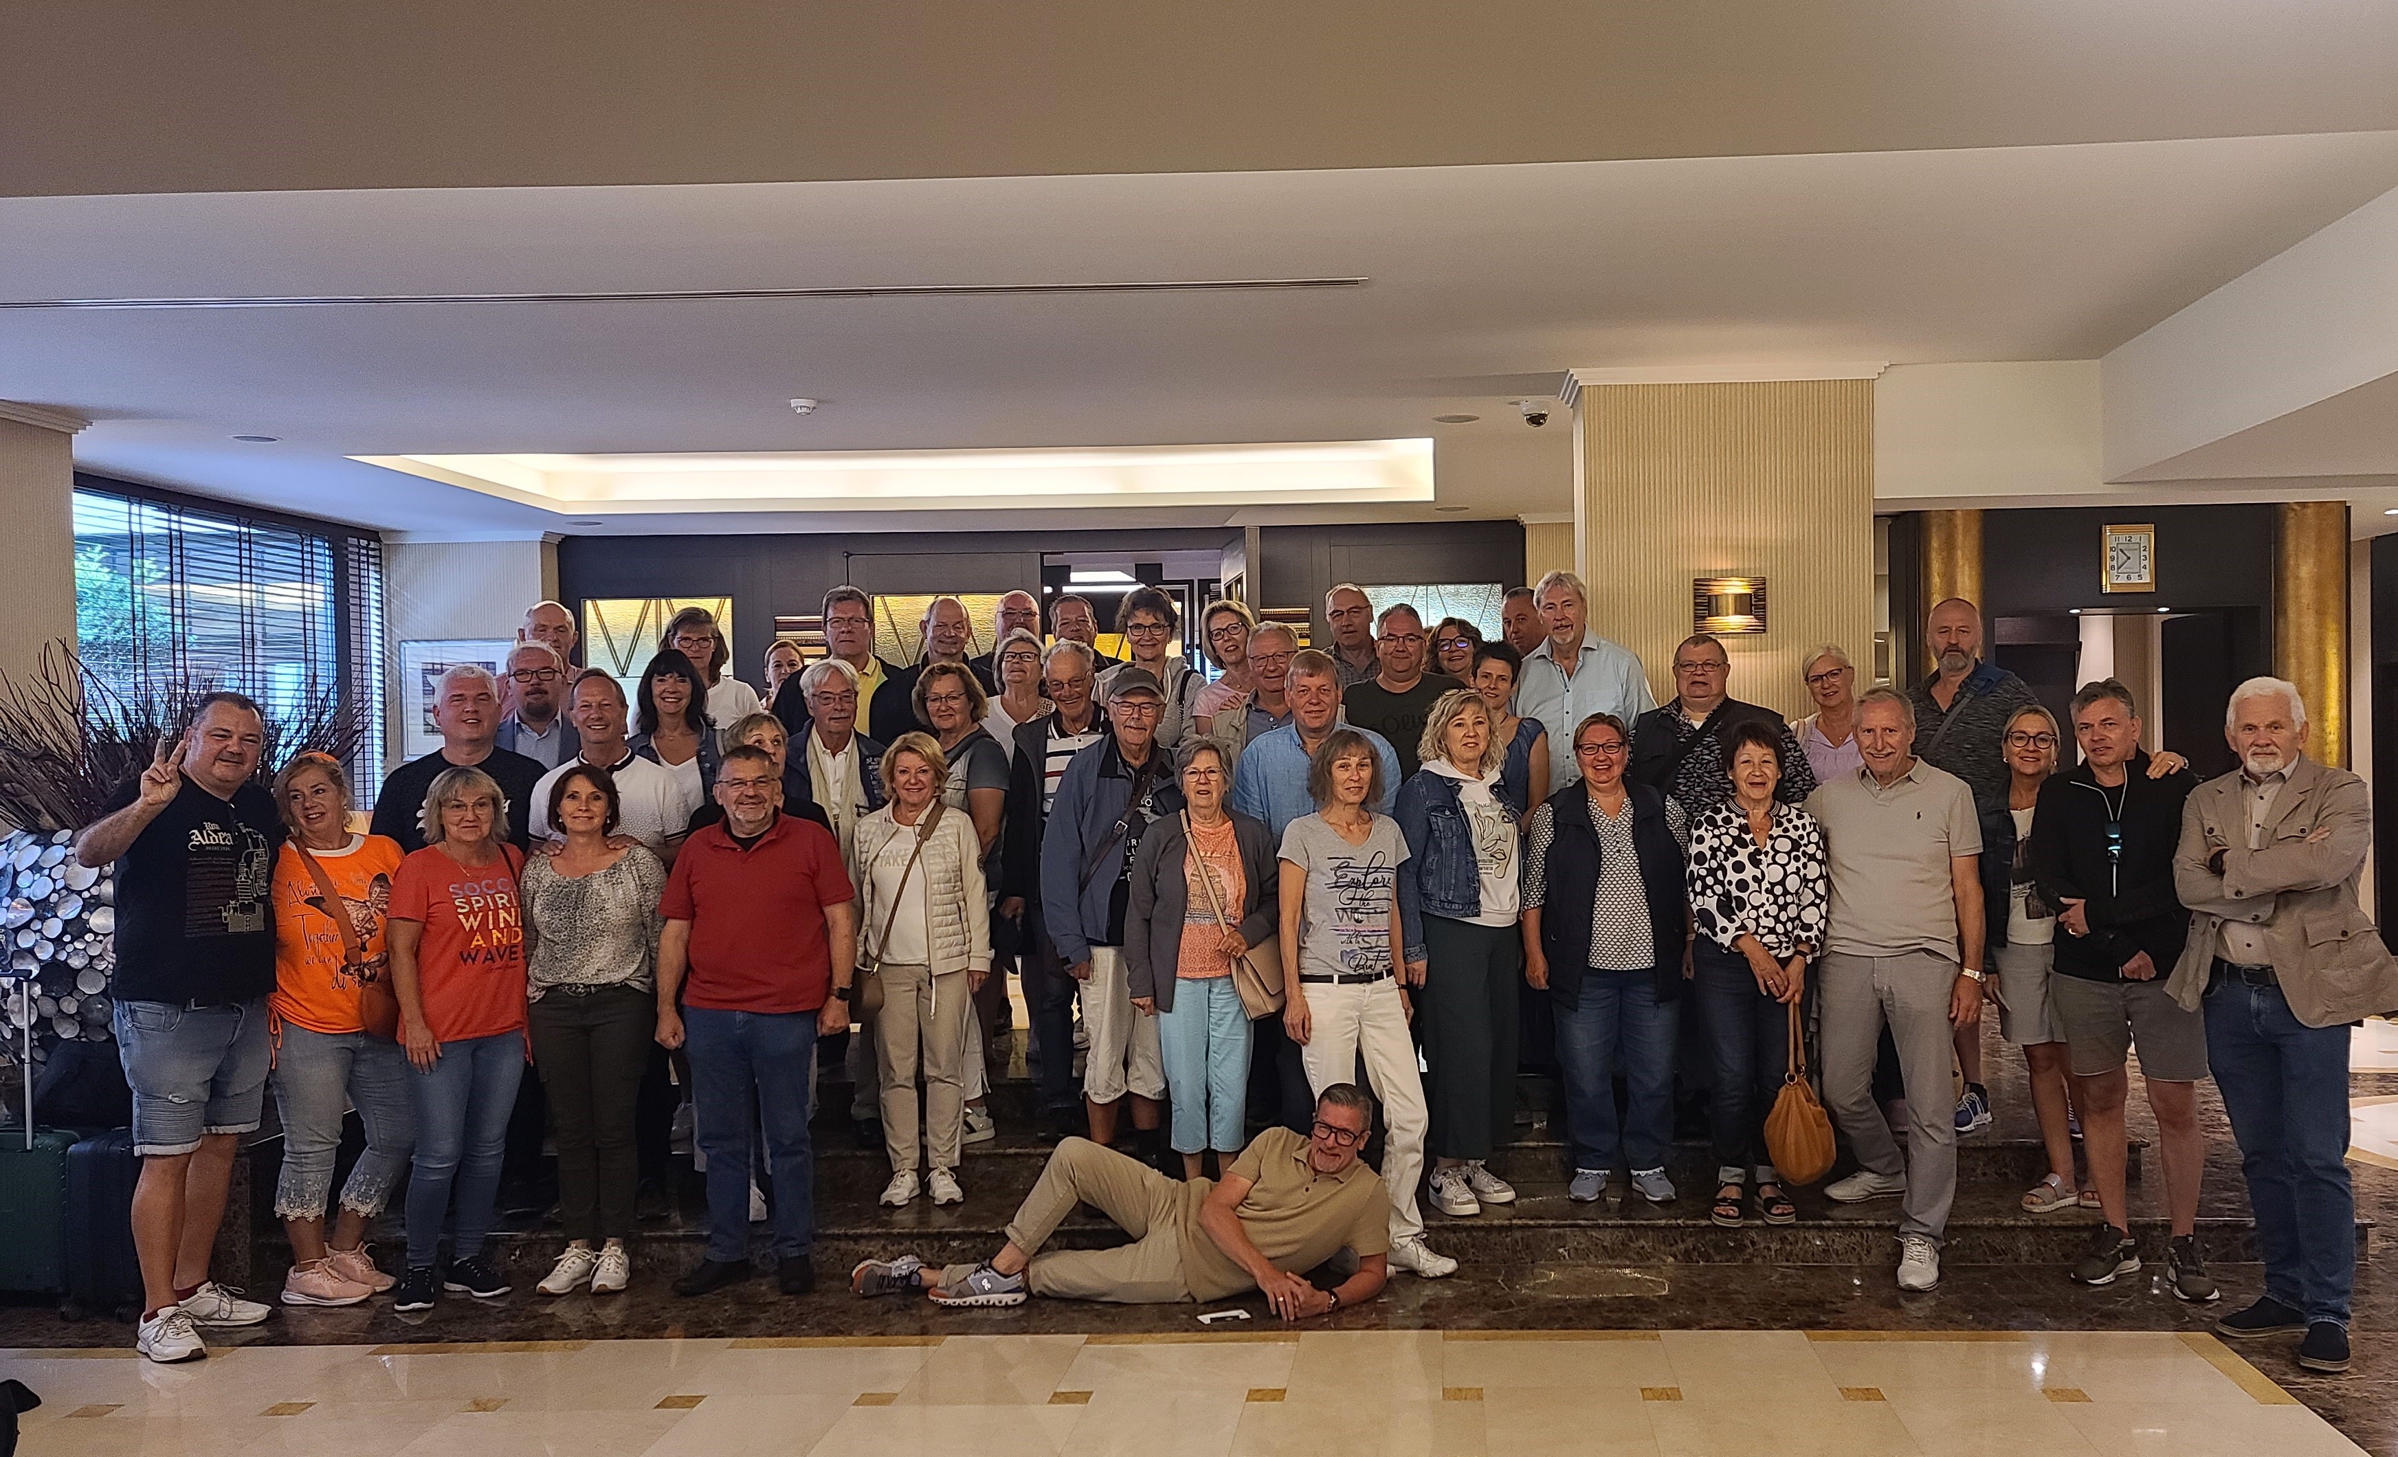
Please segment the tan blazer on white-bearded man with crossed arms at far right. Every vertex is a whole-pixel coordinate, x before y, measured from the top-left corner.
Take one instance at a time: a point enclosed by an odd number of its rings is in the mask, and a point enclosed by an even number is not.
[[[2173,887],[2189,906],[2189,939],[2165,990],[2197,1009],[2206,994],[2225,920],[2264,930],[2290,1011],[2309,1028],[2357,1021],[2398,1006],[2398,961],[2357,906],[2357,872],[2372,846],[2374,808],[2364,781],[2312,760],[2290,767],[2273,798],[2264,848],[2249,848],[2240,769],[2189,791]],[[2309,836],[2331,829],[2321,841]],[[2223,848],[2223,875],[2206,867]]]

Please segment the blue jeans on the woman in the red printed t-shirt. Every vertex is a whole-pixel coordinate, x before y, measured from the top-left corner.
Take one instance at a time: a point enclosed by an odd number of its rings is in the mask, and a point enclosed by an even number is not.
[[[432,1071],[410,1071],[417,1157],[408,1177],[408,1268],[429,1270],[441,1249],[451,1186],[458,1191],[451,1258],[472,1260],[492,1234],[508,1117],[516,1112],[516,1086],[525,1081],[525,1033],[441,1042]]]

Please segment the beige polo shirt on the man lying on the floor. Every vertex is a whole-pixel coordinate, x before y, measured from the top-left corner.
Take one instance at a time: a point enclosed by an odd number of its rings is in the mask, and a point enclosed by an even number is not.
[[[1225,1177],[1252,1179],[1249,1193],[1233,1210],[1249,1244],[1276,1270],[1300,1272],[1340,1249],[1388,1253],[1391,1201],[1381,1191],[1381,1174],[1364,1160],[1350,1160],[1338,1174],[1319,1174],[1307,1162],[1307,1133],[1266,1129],[1225,1169]],[[1252,1289],[1257,1282],[1249,1272],[1199,1227],[1199,1208],[1213,1184],[1194,1179],[1189,1189],[1182,1205],[1182,1275],[1192,1296],[1206,1301]]]

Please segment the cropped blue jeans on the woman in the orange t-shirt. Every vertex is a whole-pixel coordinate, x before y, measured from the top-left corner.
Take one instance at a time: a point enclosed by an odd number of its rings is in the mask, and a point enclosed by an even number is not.
[[[367,1033],[312,1033],[283,1023],[276,1047],[276,1117],[283,1119],[283,1172],[276,1177],[278,1220],[321,1220],[333,1193],[343,1107],[357,1105],[367,1153],[350,1165],[341,1208],[379,1215],[391,1186],[408,1172],[417,1143],[417,1110],[408,1088],[408,1052]]]

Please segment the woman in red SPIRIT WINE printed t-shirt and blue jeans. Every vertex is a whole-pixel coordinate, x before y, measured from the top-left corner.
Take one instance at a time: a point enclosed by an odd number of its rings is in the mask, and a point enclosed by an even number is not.
[[[508,1114],[525,1076],[523,856],[506,844],[508,796],[472,767],[434,776],[424,848],[391,887],[391,983],[415,1069],[417,1157],[408,1179],[408,1272],[393,1308],[434,1306],[434,1253],[451,1191],[456,1244],[441,1289],[508,1294],[482,1258],[499,1203]]]

